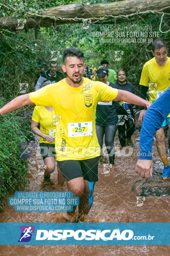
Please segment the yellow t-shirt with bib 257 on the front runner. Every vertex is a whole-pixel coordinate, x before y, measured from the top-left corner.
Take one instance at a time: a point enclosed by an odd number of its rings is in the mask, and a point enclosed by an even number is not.
[[[100,155],[95,116],[99,101],[112,101],[118,90],[102,82],[83,78],[79,87],[65,79],[29,94],[36,105],[53,107],[57,160],[83,160]]]

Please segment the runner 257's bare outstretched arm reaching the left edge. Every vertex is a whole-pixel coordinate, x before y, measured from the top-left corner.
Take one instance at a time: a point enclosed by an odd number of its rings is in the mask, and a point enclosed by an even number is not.
[[[20,95],[17,98],[8,102],[5,106],[0,108],[0,114],[1,115],[6,114],[8,112],[11,112],[11,111],[17,109],[17,108],[21,108],[25,105],[34,105],[34,103],[31,102],[31,100],[29,99],[29,93]]]

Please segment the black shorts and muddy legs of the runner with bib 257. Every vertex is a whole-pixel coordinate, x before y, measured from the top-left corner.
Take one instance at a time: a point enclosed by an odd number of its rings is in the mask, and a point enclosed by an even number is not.
[[[58,161],[68,191],[79,197],[79,216],[87,215],[93,203],[94,183],[98,181],[99,157],[85,160]],[[74,216],[76,206],[68,215]]]

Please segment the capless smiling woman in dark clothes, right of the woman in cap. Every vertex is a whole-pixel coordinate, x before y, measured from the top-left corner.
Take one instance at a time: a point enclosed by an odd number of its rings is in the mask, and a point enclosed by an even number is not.
[[[126,74],[124,70],[119,70],[117,73],[117,82],[114,84],[120,90],[127,90],[130,93],[134,93],[134,87],[132,84],[126,82]],[[118,116],[127,115],[127,119],[124,124],[118,123],[119,141],[122,147],[133,146],[133,141],[131,139],[132,134],[135,130],[135,117],[133,113],[133,105],[124,104],[124,108],[121,106],[116,109]],[[128,108],[128,110],[127,110]],[[129,113],[129,114],[127,114]]]

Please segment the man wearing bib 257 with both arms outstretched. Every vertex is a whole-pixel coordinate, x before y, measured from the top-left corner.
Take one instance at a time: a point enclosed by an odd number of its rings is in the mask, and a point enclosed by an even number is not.
[[[85,66],[81,50],[65,49],[62,65],[63,72],[67,74],[65,79],[19,96],[0,109],[2,115],[30,104],[54,108],[57,162],[68,189],[80,198],[78,219],[88,214],[93,203],[94,184],[98,180],[97,103],[114,100],[150,106],[150,102],[133,93],[83,78]]]

